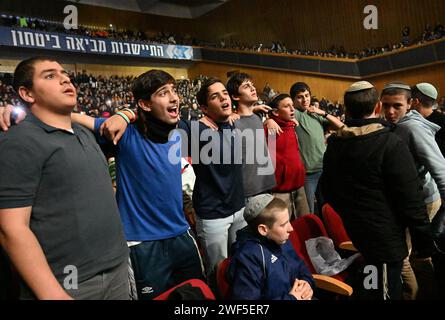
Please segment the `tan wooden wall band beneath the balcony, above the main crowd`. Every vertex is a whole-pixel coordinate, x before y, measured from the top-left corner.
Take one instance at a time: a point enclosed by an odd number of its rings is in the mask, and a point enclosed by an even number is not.
[[[14,72],[18,60],[0,59],[0,72]],[[325,97],[331,101],[342,101],[343,93],[350,84],[356,80],[348,80],[336,77],[327,77],[319,75],[310,75],[294,72],[284,72],[279,70],[265,70],[257,68],[247,68],[233,65],[216,64],[199,62],[192,65],[190,68],[168,68],[168,67],[152,67],[152,66],[115,66],[115,65],[100,65],[100,64],[64,64],[68,70],[81,72],[87,70],[93,75],[102,76],[138,76],[141,73],[148,71],[151,68],[163,69],[172,74],[175,79],[182,77],[193,79],[200,74],[206,76],[213,76],[220,78],[224,83],[227,81],[227,73],[231,71],[247,72],[254,78],[255,86],[258,91],[262,91],[266,82],[275,90],[288,93],[290,86],[297,82],[303,81],[309,84],[312,88],[312,93],[318,98]],[[376,85],[377,89],[381,90],[383,86],[391,81],[403,81],[410,85],[419,82],[430,82],[437,87],[440,96],[445,96],[445,63],[427,66],[412,70],[401,71],[397,73],[390,73],[375,77],[368,77],[368,80]]]

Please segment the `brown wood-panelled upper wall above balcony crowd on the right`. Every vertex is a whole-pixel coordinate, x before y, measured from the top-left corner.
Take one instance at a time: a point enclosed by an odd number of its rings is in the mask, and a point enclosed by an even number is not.
[[[378,30],[363,27],[363,9],[368,4],[379,11]],[[443,12],[443,0],[233,0],[198,19],[211,28],[195,31],[207,40],[221,35],[241,42],[280,40],[288,47],[302,49],[335,45],[359,51],[399,42],[404,26],[418,35],[426,23],[445,24]]]

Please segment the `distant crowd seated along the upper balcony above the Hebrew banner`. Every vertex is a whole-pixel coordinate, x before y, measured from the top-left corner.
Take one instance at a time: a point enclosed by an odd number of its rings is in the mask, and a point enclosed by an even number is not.
[[[445,28],[441,23],[437,23],[434,27],[430,24],[425,25],[423,33],[412,36],[410,27],[404,27],[402,30],[402,38],[399,43],[387,44],[383,47],[364,48],[361,52],[347,52],[343,46],[332,46],[327,50],[308,50],[303,48],[288,48],[283,42],[272,41],[267,45],[239,43],[237,41],[221,39],[219,43],[198,40],[189,34],[175,34],[171,32],[158,31],[149,34],[141,30],[118,29],[116,26],[109,25],[108,28],[82,26],[78,29],[66,30],[61,22],[48,21],[38,18],[17,17],[7,14],[0,15],[0,25],[8,27],[30,28],[48,32],[69,33],[97,38],[109,38],[121,41],[140,41],[154,44],[178,44],[202,47],[217,47],[221,49],[264,52],[264,53],[281,53],[289,55],[316,56],[323,58],[344,58],[344,59],[362,59],[372,57],[387,52],[392,52],[413,45],[423,44],[425,42],[442,39],[445,37]]]

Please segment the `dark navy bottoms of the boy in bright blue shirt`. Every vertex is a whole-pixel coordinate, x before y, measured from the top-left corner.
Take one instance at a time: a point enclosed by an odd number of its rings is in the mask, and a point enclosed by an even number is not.
[[[198,246],[190,231],[130,247],[139,300],[151,300],[190,279],[204,280]]]

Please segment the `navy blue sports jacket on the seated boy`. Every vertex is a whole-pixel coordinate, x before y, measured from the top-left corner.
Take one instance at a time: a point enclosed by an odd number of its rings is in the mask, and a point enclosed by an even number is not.
[[[289,241],[278,245],[246,227],[237,232],[232,252],[227,275],[232,299],[295,300],[289,294],[295,279],[306,280],[314,289],[310,271]]]

